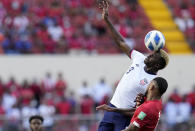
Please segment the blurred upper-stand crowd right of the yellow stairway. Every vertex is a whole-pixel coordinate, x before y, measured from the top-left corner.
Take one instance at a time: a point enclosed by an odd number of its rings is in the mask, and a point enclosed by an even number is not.
[[[186,35],[191,48],[195,51],[195,1],[165,0],[179,29]]]

